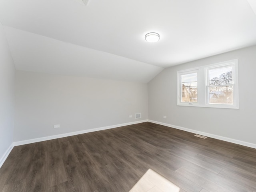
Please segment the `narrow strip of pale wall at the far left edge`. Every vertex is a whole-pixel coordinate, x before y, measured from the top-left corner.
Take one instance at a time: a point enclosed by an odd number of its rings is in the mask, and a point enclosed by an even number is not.
[[[13,140],[14,79],[14,63],[0,23],[0,166]]]

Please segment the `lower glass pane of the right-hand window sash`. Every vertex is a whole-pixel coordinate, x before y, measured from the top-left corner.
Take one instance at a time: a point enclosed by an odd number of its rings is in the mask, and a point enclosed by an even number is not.
[[[210,104],[233,104],[233,86],[209,87]]]

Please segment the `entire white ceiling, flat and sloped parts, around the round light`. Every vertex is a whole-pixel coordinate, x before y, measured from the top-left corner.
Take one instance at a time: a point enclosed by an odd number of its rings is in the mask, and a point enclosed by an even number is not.
[[[247,0],[0,0],[0,22],[17,69],[139,82],[256,44]]]

